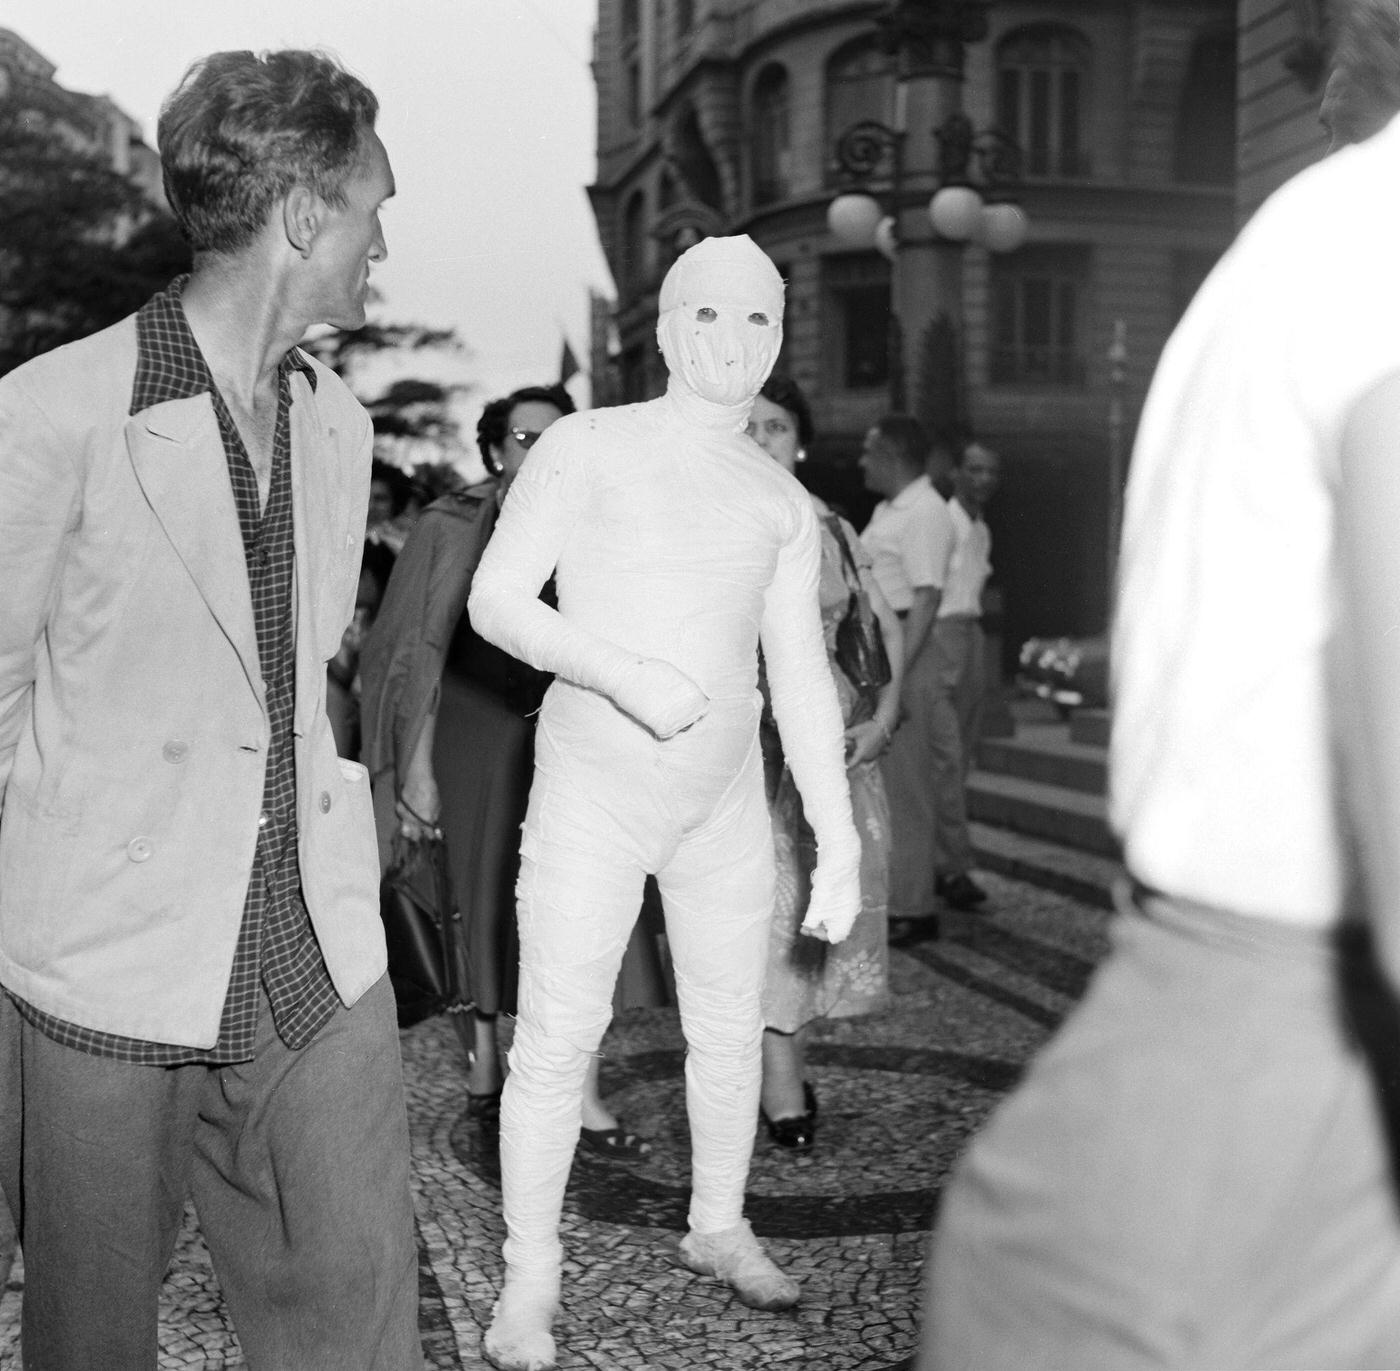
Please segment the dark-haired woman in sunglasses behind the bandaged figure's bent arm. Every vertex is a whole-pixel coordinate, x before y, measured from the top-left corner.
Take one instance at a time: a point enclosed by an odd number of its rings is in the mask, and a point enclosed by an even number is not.
[[[381,861],[395,833],[441,829],[468,940],[473,1050],[468,1108],[494,1133],[500,1118],[497,1017],[514,1012],[519,945],[515,877],[535,758],[535,716],[550,676],[472,629],[466,597],[505,493],[539,436],[574,402],[563,387],[525,387],[491,401],[476,441],[490,479],[420,515],[389,578],[365,644],[364,759],[374,777]],[[546,585],[549,597],[553,585]],[[634,938],[636,955],[644,940]],[[661,1003],[659,970],[633,969],[629,1003]],[[584,1091],[581,1146],[620,1161],[650,1144],[627,1132],[598,1092]]]

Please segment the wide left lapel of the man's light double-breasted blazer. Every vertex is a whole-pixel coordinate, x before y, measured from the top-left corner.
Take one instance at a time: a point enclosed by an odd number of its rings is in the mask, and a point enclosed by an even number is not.
[[[213,406],[167,401],[126,422],[136,479],[210,613],[238,653],[259,700],[262,671],[238,507]]]

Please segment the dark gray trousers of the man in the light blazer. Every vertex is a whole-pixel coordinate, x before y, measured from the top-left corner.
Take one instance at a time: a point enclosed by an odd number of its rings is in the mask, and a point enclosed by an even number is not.
[[[388,977],[293,1052],[150,1067],[60,1046],[0,991],[0,1181],[27,1371],[146,1371],[190,1195],[251,1371],[417,1371],[409,1139]]]

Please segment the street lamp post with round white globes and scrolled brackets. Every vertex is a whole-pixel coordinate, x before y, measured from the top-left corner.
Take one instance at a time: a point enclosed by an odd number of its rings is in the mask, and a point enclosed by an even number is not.
[[[994,129],[976,132],[962,109],[965,48],[987,35],[984,0],[899,0],[876,24],[896,59],[896,125],[864,119],[840,134],[834,161],[847,189],[827,207],[827,227],[837,242],[890,260],[889,402],[904,409],[920,340],[906,325],[945,315],[956,336],[959,249],[1014,251],[1029,225],[1014,203],[1021,150]],[[885,204],[867,189],[882,167]]]

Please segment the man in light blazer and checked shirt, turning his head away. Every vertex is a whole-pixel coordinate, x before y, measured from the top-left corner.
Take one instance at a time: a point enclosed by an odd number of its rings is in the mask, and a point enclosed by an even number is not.
[[[165,102],[193,272],[0,380],[0,1181],[35,1368],[154,1367],[193,1196],[252,1368],[416,1368],[409,1148],[351,618],[378,105],[307,52]]]

